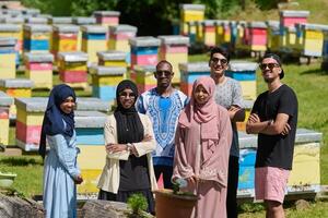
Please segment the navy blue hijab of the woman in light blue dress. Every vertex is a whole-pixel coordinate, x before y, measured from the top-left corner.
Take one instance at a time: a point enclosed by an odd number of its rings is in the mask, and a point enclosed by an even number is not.
[[[73,97],[74,101],[77,100],[74,90],[66,84],[60,84],[55,86],[50,93],[47,110],[44,117],[39,148],[38,148],[38,153],[40,156],[43,156],[43,158],[45,158],[46,155],[46,135],[62,134],[69,137],[73,136],[74,112],[72,111],[71,113],[65,113],[60,109],[60,105],[68,97]]]

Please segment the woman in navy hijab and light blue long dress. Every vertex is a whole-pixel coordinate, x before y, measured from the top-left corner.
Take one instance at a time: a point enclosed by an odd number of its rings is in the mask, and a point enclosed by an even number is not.
[[[39,154],[45,158],[43,201],[47,218],[77,217],[75,184],[83,179],[77,165],[75,99],[70,86],[55,86],[44,117]],[[50,148],[47,154],[46,145]]]

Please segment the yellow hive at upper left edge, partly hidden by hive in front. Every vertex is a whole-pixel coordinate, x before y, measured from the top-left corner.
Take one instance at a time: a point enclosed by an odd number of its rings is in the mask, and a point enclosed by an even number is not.
[[[23,28],[20,24],[1,24],[0,37],[12,37],[16,39],[15,51],[22,52],[23,46]]]

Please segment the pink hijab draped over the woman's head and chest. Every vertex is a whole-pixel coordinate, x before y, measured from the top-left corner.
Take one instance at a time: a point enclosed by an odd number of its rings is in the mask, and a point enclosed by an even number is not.
[[[198,105],[195,100],[196,88],[202,85],[209,93],[209,99],[204,105]],[[201,123],[201,140],[219,140],[218,105],[214,101],[215,83],[210,76],[199,77],[192,86],[192,96],[186,109],[179,117],[181,128],[190,128],[192,120]]]

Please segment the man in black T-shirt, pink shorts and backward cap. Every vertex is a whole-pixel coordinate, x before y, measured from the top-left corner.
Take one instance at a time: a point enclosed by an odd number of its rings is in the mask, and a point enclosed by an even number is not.
[[[265,201],[267,217],[282,218],[293,162],[297,98],[293,89],[281,82],[284,72],[277,55],[267,53],[259,66],[268,90],[257,97],[246,124],[248,134],[258,134],[255,197]]]

